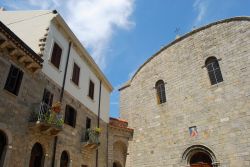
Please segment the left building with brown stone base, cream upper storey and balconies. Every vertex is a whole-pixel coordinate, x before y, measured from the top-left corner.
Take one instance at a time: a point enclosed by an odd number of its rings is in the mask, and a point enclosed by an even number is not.
[[[133,130],[109,123],[112,85],[63,18],[0,11],[0,21],[0,166],[123,167]]]

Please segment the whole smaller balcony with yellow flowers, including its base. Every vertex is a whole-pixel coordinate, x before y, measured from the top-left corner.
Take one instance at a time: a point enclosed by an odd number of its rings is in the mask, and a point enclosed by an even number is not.
[[[91,150],[97,149],[98,146],[100,145],[99,136],[100,136],[100,128],[84,130],[81,142],[82,151],[84,151],[84,149],[91,149]]]

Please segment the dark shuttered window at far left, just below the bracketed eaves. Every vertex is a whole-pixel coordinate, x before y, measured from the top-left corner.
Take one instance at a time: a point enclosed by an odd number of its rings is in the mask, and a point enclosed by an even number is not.
[[[22,78],[23,78],[23,72],[17,67],[11,65],[4,89],[8,90],[9,92],[15,95],[18,95]]]

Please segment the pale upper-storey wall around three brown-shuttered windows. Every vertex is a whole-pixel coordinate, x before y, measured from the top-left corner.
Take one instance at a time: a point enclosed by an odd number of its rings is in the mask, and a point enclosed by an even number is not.
[[[57,42],[57,44],[59,44],[63,50],[59,70],[50,63],[54,42]],[[65,64],[68,54],[68,45],[69,41],[64,37],[61,31],[58,31],[54,23],[51,23],[44,52],[45,61],[43,72],[60,86],[62,86],[63,83]],[[74,82],[72,82],[74,63],[76,63],[80,67],[80,78],[78,86]],[[88,97],[90,80],[92,80],[95,84],[94,100]],[[68,62],[65,90],[97,115],[99,102],[99,84],[100,81],[97,76],[94,74],[94,72],[92,72],[89,65],[85,62],[83,56],[80,56],[76,51],[74,45],[72,45]],[[101,119],[105,122],[109,121],[109,94],[110,92],[104,86],[102,86]]]

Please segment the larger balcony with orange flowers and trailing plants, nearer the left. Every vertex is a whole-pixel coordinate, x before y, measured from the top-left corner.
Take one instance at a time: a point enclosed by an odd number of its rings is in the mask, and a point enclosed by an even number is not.
[[[29,119],[29,129],[32,132],[56,136],[62,131],[63,115],[60,113],[59,103],[52,107],[44,102],[33,106],[33,112]]]

